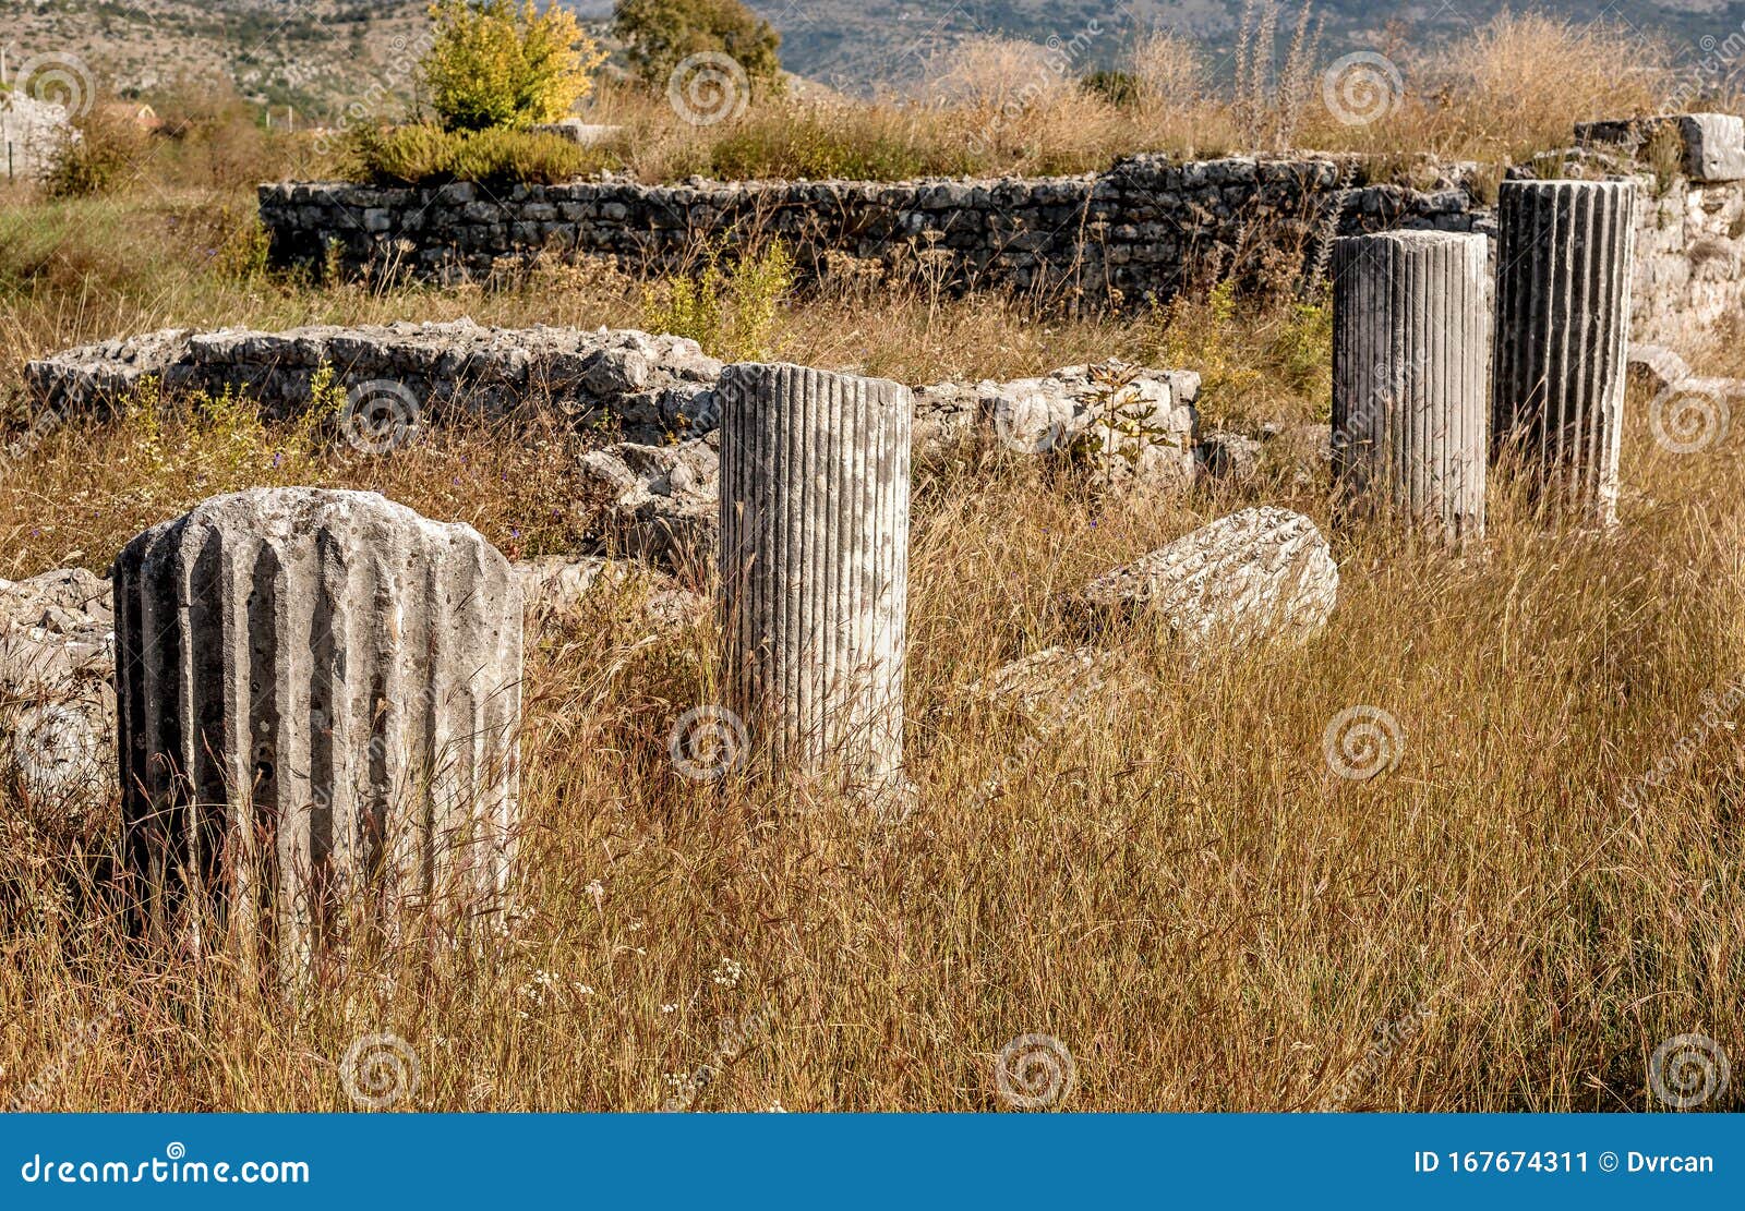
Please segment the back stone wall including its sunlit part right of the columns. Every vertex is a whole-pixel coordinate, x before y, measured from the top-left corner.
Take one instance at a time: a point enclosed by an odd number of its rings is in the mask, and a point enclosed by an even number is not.
[[[1633,335],[1680,346],[1745,300],[1735,171],[1745,141],[1726,115],[1686,115],[1672,129],[1686,155],[1668,171],[1644,138],[1628,141],[1637,126],[1581,127],[1576,171],[1640,181]],[[1420,166],[1413,180],[1427,188],[1368,181],[1377,171],[1331,155],[1133,155],[1087,176],[895,183],[276,183],[260,187],[260,218],[277,263],[344,276],[478,279],[541,253],[674,270],[705,244],[731,251],[778,236],[808,279],[909,274],[1092,307],[1160,302],[1223,276],[1295,281],[1326,263],[1335,236],[1495,234],[1494,180],[1475,166]]]

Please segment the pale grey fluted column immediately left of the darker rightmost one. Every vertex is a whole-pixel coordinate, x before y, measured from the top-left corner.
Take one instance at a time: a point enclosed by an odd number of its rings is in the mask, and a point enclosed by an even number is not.
[[[1333,243],[1333,483],[1347,503],[1483,534],[1488,279],[1483,236]]]

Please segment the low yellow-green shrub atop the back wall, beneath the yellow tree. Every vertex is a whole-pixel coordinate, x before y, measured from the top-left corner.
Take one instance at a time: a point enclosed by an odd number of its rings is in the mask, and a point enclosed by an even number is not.
[[[600,166],[599,152],[557,134],[443,131],[428,124],[361,127],[352,131],[342,155],[344,174],[366,185],[557,185]]]

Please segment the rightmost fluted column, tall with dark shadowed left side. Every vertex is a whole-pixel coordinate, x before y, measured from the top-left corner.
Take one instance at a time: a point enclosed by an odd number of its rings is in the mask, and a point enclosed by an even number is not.
[[[1630,335],[1633,181],[1504,181],[1492,457],[1551,504],[1612,522]]]

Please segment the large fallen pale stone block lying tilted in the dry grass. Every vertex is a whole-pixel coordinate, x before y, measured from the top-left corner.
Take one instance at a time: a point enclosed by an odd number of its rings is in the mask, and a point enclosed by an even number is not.
[[[1338,599],[1338,567],[1316,523],[1274,506],[1242,510],[1085,585],[1068,607],[1091,625],[1160,618],[1187,642],[1307,639]]]

